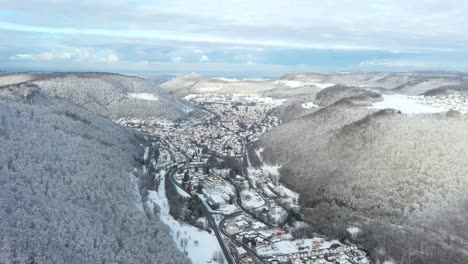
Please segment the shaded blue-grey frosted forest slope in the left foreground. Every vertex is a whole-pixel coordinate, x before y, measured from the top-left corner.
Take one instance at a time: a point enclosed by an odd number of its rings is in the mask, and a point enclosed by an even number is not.
[[[34,85],[2,87],[0,263],[188,263],[143,211],[141,143]]]

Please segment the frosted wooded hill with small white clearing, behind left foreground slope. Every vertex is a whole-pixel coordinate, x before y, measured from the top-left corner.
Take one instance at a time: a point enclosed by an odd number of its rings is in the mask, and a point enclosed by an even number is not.
[[[112,119],[157,116],[174,120],[197,112],[193,106],[161,89],[157,81],[139,77],[110,73],[0,75],[0,86],[26,82]]]

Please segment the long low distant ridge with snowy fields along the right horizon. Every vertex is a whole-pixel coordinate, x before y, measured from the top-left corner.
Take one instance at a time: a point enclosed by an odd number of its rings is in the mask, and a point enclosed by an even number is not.
[[[408,73],[291,73],[277,80],[209,78],[199,74],[179,76],[161,84],[167,91],[181,97],[188,94],[239,93],[277,98],[314,95],[335,85],[393,90],[407,95],[420,95],[447,85],[468,84],[468,75],[458,72]]]

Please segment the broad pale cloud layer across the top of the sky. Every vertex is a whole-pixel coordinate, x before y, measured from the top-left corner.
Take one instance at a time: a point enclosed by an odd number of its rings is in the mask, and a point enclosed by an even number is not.
[[[0,0],[5,8],[24,13],[21,18],[1,22],[2,29],[114,36],[142,43],[157,40],[305,49],[453,51],[468,46],[462,26],[468,1],[298,0],[292,4],[172,0],[139,5],[119,0],[106,5],[106,1],[46,0],[38,4],[42,12],[33,11],[33,4],[13,2],[21,1]],[[67,10],[87,12],[56,19]]]

